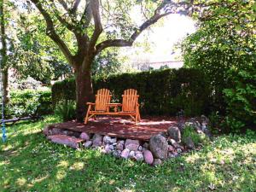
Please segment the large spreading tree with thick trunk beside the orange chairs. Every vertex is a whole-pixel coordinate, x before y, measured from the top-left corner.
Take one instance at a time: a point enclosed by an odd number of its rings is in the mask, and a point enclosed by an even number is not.
[[[75,70],[77,119],[84,118],[85,103],[93,96],[91,65],[103,49],[131,46],[148,26],[173,13],[184,13],[187,1],[99,1],[31,0],[46,22],[46,34],[59,46]],[[139,26],[131,9],[143,7]],[[76,49],[70,49],[61,29],[73,32]]]

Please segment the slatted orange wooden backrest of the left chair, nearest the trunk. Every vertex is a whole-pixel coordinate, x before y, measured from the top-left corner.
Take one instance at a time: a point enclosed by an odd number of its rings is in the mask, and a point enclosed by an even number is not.
[[[96,111],[106,111],[107,104],[110,102],[110,90],[108,89],[101,89],[97,90],[96,94]]]

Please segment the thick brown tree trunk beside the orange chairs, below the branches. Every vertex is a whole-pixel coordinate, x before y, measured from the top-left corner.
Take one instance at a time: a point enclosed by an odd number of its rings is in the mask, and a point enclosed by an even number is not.
[[[83,122],[87,110],[86,102],[92,102],[93,99],[90,70],[83,70],[81,66],[76,67],[75,81],[77,102],[76,117],[79,122]]]

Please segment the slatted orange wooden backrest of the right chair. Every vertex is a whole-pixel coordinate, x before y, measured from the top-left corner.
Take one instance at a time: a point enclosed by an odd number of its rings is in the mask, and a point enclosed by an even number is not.
[[[135,112],[138,102],[137,90],[128,89],[124,91],[122,110],[123,112]]]

